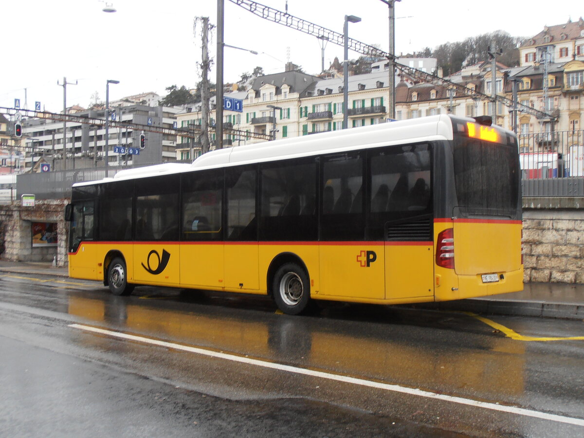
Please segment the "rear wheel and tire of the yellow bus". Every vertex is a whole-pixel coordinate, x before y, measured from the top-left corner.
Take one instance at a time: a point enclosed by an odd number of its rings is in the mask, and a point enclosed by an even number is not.
[[[308,274],[296,263],[284,263],[279,267],[274,275],[272,290],[276,305],[285,314],[298,315],[308,309]]]

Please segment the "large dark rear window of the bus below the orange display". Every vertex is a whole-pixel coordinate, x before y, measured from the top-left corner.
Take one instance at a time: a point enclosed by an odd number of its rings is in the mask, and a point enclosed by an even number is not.
[[[457,137],[454,180],[462,214],[514,216],[519,193],[516,145]]]

